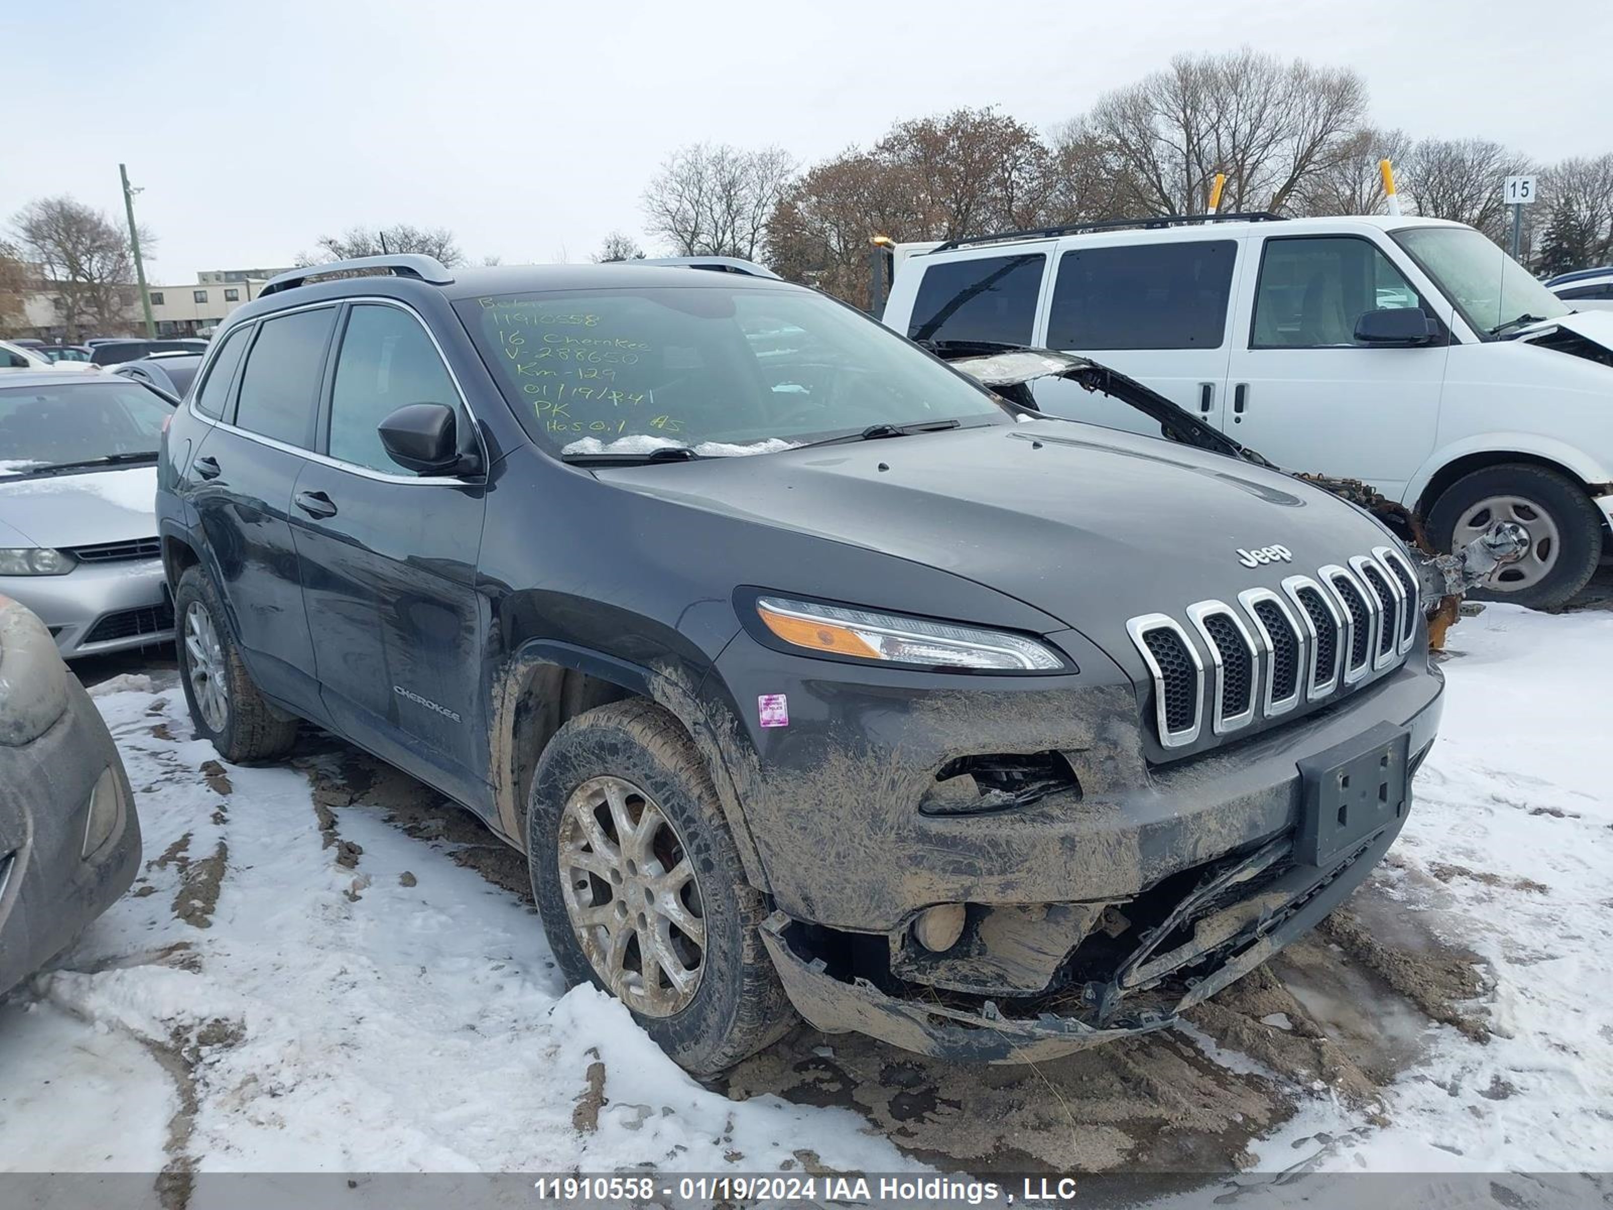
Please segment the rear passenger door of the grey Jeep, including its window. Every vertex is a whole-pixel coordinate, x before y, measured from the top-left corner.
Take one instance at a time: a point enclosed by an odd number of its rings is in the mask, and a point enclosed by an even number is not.
[[[252,345],[232,398],[218,400],[215,376],[235,357],[237,337],[229,337],[197,398],[203,413],[223,403],[221,423],[202,437],[185,471],[218,587],[253,678],[266,694],[311,718],[321,716],[313,640],[287,510],[313,444],[336,313],[336,307],[287,311],[242,332]]]

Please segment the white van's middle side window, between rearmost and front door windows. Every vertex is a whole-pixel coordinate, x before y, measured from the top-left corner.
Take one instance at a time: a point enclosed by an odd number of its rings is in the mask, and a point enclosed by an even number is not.
[[[1077,248],[1058,260],[1052,348],[1219,348],[1237,240]]]

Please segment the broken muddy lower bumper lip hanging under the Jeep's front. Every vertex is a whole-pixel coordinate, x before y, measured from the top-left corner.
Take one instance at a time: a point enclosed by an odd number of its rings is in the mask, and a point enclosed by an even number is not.
[[[824,1033],[861,1033],[903,1050],[950,1062],[1037,1063],[1113,1042],[1121,1037],[1166,1029],[1179,1015],[1248,974],[1289,942],[1313,929],[1371,873],[1400,834],[1403,818],[1357,847],[1327,870],[1290,866],[1260,889],[1265,905],[1258,918],[1219,945],[1207,949],[1195,965],[1202,971],[1174,997],[1150,999],[1148,1008],[1119,1010],[1102,1024],[1057,1012],[1007,1015],[994,1000],[977,1010],[932,1000],[900,999],[866,979],[836,979],[821,958],[792,944],[792,921],[774,912],[761,926],[761,939],[797,1012]],[[1286,855],[1287,839],[1263,847],[1248,862]],[[926,989],[919,989],[921,992]]]

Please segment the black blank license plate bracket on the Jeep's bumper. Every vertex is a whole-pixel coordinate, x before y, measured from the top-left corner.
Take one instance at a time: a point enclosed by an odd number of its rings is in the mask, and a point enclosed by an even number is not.
[[[1303,794],[1294,860],[1329,866],[1411,807],[1411,736],[1390,723],[1298,761]]]

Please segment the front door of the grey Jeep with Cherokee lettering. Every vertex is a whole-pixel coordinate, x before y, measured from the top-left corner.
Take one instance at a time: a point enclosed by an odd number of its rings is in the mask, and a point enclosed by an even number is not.
[[[376,426],[406,403],[447,403],[461,432],[473,424],[423,321],[397,303],[352,303],[321,408],[321,457],[292,494],[313,666],[339,731],[479,807],[484,484],[415,474],[387,457]]]

